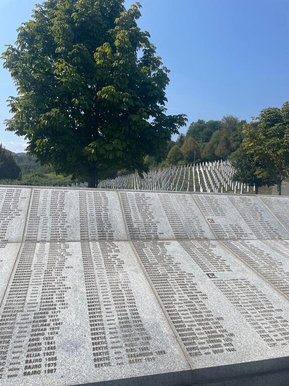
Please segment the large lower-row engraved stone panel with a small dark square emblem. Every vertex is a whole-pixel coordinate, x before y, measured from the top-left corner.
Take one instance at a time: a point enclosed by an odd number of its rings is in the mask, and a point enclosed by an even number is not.
[[[193,368],[287,356],[289,304],[218,241],[133,246]]]

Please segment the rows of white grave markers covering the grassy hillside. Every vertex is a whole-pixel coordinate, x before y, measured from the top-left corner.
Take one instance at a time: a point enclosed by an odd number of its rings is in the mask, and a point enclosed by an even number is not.
[[[114,179],[99,181],[98,188],[137,189],[166,191],[207,191],[222,193],[231,191],[242,194],[255,191],[255,187],[232,180],[234,168],[230,161],[200,162],[165,167],[156,171],[120,175]],[[81,187],[81,186],[80,186]]]

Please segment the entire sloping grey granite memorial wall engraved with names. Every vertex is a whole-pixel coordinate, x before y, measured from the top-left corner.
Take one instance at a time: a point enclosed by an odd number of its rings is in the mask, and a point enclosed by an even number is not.
[[[288,200],[0,187],[0,384],[287,385]]]

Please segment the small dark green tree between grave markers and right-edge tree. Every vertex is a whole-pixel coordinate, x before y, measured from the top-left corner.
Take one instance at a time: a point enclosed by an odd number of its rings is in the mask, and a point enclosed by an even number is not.
[[[254,156],[247,153],[242,145],[231,155],[230,160],[235,169],[233,180],[255,185],[256,195],[259,187],[273,184],[269,176],[261,177],[260,174],[257,174],[258,170],[263,169],[263,165],[255,161]]]

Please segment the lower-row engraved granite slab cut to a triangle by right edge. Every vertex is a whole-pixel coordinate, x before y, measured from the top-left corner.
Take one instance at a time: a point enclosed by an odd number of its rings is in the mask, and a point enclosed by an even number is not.
[[[233,253],[262,275],[281,293],[289,296],[289,241],[223,241]]]

